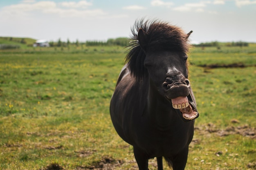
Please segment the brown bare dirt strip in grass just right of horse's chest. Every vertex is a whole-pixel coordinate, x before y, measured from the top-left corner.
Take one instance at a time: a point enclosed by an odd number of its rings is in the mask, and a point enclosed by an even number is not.
[[[233,123],[237,123],[237,121],[232,120]],[[225,129],[219,129],[214,124],[207,124],[202,127],[195,127],[195,130],[198,130],[200,135],[205,135],[207,133],[215,133],[219,136],[228,136],[228,135],[242,135],[245,137],[250,137],[252,139],[256,139],[256,128],[250,127],[249,125],[243,126],[229,126]]]

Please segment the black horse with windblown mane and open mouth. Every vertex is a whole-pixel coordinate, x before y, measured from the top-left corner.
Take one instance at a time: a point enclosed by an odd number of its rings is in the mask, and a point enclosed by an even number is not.
[[[173,170],[186,166],[199,116],[186,62],[190,33],[158,20],[136,21],[132,29],[110,115],[119,136],[133,146],[139,170],[148,170],[154,157],[158,170],[162,157]]]

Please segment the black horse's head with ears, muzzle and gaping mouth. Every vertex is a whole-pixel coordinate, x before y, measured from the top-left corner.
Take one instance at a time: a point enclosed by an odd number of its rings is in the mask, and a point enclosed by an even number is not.
[[[174,32],[171,39],[175,41],[172,43],[161,35],[159,39],[153,37],[142,28],[138,30],[137,40],[144,52],[144,72],[147,72],[150,82],[160,95],[171,102],[184,121],[190,121],[199,116],[188,79],[186,41],[191,32],[180,33],[181,29],[171,31]],[[180,40],[176,40],[175,36]]]

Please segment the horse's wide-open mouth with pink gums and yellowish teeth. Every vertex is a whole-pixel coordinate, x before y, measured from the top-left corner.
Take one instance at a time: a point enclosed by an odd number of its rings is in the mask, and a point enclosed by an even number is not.
[[[184,119],[189,121],[199,116],[191,95],[188,97],[177,97],[175,99],[171,99],[171,102],[173,104],[173,108],[180,110]]]

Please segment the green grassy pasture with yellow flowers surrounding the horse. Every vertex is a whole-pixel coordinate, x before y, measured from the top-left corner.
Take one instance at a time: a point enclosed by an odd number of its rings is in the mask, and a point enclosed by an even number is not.
[[[122,47],[0,51],[0,169],[136,169],[109,116],[124,56]],[[256,47],[194,48],[190,63],[200,117],[186,170],[256,169]],[[222,67],[233,63],[245,67]]]

